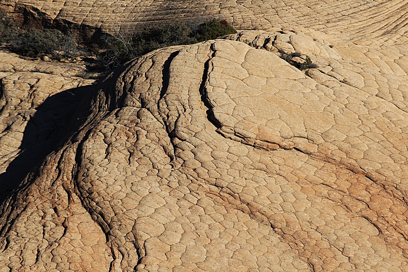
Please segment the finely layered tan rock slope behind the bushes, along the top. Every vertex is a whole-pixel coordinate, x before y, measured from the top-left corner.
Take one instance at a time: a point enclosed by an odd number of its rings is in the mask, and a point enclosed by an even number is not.
[[[359,43],[406,43],[408,0],[0,0],[0,11],[21,23],[81,29],[90,39],[96,30],[141,31],[174,19],[220,17],[236,29],[305,27]]]

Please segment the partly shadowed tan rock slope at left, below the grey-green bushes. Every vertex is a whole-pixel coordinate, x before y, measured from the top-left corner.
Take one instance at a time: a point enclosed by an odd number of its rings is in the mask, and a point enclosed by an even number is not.
[[[53,151],[94,80],[79,64],[34,62],[0,52],[0,201]]]

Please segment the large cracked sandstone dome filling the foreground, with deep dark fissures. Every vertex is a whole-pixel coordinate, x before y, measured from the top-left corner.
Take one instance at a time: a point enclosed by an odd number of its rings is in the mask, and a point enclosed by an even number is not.
[[[0,271],[408,271],[407,47],[324,37],[245,31],[112,72],[3,203]]]

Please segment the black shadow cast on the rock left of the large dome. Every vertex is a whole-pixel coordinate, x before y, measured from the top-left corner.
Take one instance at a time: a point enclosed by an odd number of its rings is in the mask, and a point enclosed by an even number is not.
[[[44,158],[67,136],[67,126],[93,85],[69,89],[48,97],[37,107],[23,132],[21,152],[0,174],[0,205]],[[72,121],[71,121],[72,123]]]

